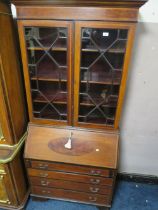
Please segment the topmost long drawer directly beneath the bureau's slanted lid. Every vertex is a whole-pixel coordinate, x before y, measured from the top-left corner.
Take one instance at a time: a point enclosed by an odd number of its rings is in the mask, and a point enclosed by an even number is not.
[[[111,177],[114,171],[96,167],[76,166],[72,164],[51,163],[45,161],[31,161],[31,167],[44,170],[65,171],[72,173]]]

